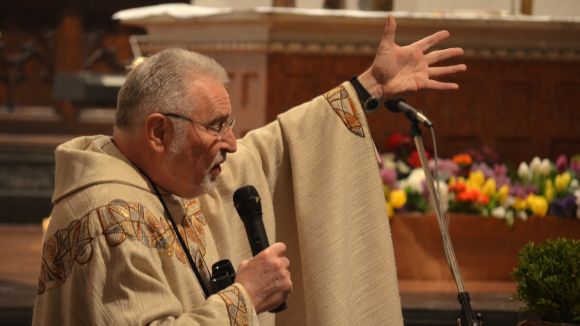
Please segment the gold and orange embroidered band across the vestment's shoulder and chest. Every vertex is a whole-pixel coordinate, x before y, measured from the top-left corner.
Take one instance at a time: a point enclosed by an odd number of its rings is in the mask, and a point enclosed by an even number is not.
[[[190,209],[192,207],[195,209]],[[180,232],[185,234],[187,242],[196,244],[188,245],[194,257],[203,260],[207,247],[204,226],[207,223],[199,202],[185,203],[185,214]],[[175,255],[182,264],[187,264],[185,253],[164,217],[156,217],[140,203],[117,199],[73,220],[67,228],[46,239],[38,281],[39,295],[60,287],[70,276],[75,262],[82,265],[91,260],[95,240],[92,235],[98,232],[91,230],[90,221],[94,219],[98,219],[102,235],[111,248],[127,239],[136,240],[168,256]]]

